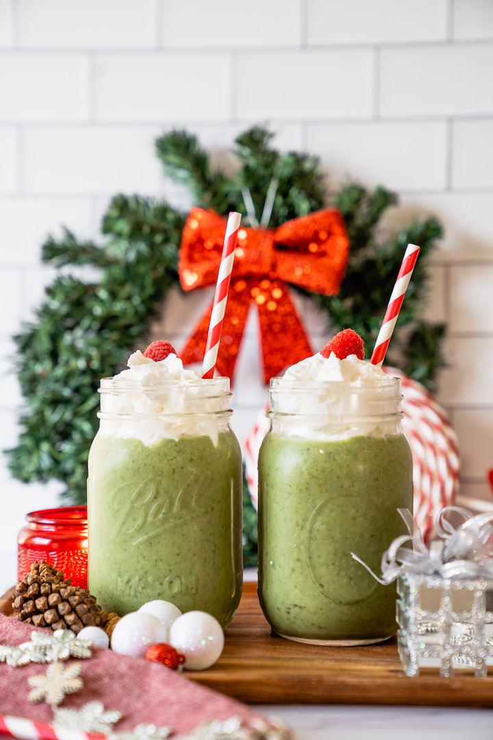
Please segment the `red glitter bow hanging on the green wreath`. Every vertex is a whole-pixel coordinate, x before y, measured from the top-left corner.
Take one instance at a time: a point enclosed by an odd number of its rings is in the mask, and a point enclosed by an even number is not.
[[[178,272],[183,290],[214,285],[226,221],[214,211],[192,208],[183,229]],[[222,324],[217,371],[232,377],[252,301],[259,311],[265,382],[313,354],[288,286],[336,295],[349,255],[339,211],[316,211],[277,229],[240,227],[228,304]],[[183,363],[203,360],[211,306],[186,342]]]

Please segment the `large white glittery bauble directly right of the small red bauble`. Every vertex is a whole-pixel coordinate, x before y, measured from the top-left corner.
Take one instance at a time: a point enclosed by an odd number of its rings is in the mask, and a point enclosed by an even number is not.
[[[219,658],[224,647],[220,623],[205,611],[187,611],[169,629],[169,644],[183,653],[188,670],[204,670]]]

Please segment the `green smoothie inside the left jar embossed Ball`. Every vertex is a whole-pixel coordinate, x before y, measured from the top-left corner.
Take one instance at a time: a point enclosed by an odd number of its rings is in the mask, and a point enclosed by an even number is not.
[[[89,454],[89,589],[120,615],[164,599],[231,621],[242,586],[242,465],[229,428]]]

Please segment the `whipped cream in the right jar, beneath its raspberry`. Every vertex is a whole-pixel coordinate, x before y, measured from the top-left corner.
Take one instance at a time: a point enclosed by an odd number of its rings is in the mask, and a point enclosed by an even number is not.
[[[309,440],[395,434],[400,381],[368,360],[317,352],[271,380],[273,431]]]

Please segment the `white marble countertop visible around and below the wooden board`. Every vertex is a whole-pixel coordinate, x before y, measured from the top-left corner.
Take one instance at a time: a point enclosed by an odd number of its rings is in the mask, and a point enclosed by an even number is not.
[[[16,552],[0,549],[0,593],[17,580]],[[255,571],[247,571],[249,580]],[[296,740],[489,740],[491,710],[452,707],[367,707],[353,704],[256,705],[256,710],[281,719]],[[1,713],[1,696],[0,696]]]

